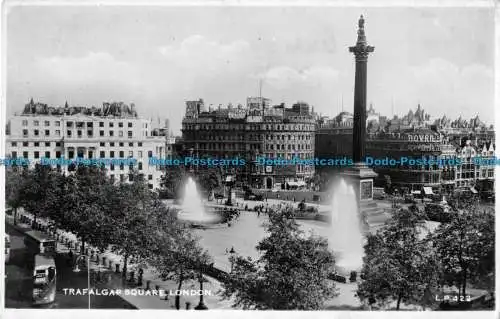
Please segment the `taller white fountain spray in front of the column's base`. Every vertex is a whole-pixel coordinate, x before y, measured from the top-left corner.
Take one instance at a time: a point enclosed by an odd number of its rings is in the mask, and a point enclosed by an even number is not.
[[[344,179],[333,189],[329,245],[336,255],[337,270],[343,275],[358,271],[363,265],[364,237],[356,194]]]

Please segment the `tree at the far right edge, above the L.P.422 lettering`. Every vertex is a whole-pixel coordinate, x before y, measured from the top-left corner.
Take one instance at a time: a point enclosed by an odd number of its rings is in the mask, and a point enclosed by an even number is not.
[[[430,237],[441,265],[442,281],[466,296],[469,282],[484,281],[495,271],[495,218],[465,201],[450,223],[441,224]],[[490,282],[490,288],[493,282]]]

